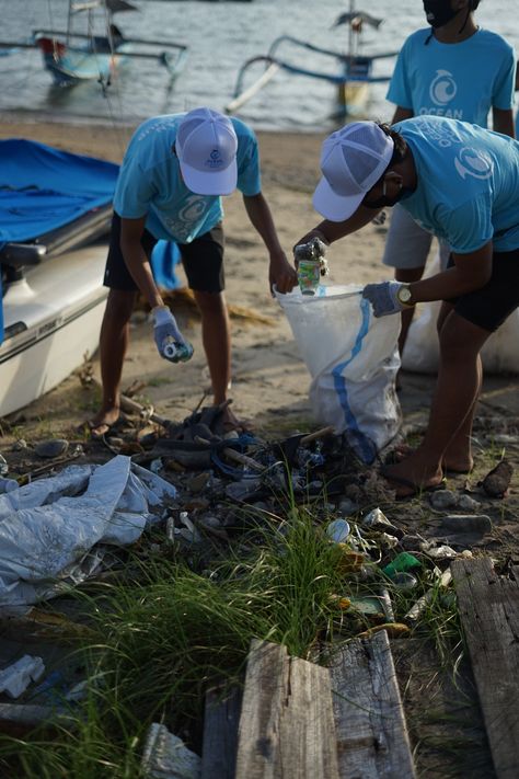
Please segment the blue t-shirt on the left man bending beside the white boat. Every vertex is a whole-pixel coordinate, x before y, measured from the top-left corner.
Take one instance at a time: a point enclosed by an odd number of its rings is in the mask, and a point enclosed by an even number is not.
[[[138,219],[147,214],[146,227],[155,238],[177,243],[191,243],[223,216],[220,196],[196,195],[182,180],[172,148],[184,116],[155,116],[137,128],[114,197],[114,209],[120,217]],[[244,195],[257,195],[262,185],[256,137],[240,119],[231,122],[238,137],[237,186]]]

